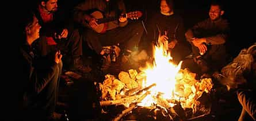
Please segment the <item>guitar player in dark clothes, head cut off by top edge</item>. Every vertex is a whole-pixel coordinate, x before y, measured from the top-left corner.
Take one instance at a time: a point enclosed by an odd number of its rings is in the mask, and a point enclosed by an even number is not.
[[[118,45],[120,45],[121,53],[131,52],[139,44],[143,33],[142,24],[136,20],[128,24],[127,17],[123,16],[125,13],[122,0],[86,0],[75,6],[74,20],[87,28],[84,29],[83,34],[85,40],[98,55],[103,57],[108,53],[105,51],[106,46],[114,46],[119,56]],[[98,18],[106,18],[106,21],[102,22]]]

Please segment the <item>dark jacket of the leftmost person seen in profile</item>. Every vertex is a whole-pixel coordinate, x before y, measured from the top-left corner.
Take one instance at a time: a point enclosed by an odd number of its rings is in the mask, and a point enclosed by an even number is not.
[[[58,68],[58,65],[53,60],[37,59],[36,54],[27,42],[20,46],[18,61],[21,73],[19,80],[21,82],[18,84],[21,84],[20,94],[22,96],[35,96],[40,93],[51,81],[55,75],[55,70]],[[27,99],[27,97],[24,97],[24,99]]]

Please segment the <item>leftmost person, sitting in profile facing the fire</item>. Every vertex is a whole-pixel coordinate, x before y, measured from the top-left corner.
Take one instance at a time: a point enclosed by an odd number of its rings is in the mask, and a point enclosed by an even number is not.
[[[20,114],[23,120],[51,120],[60,119],[55,112],[58,98],[60,73],[62,72],[62,54],[55,52],[53,56],[44,58],[35,52],[35,41],[40,37],[39,24],[36,15],[26,12],[23,16],[22,40],[20,40],[20,54],[18,63],[21,66],[19,84]],[[19,119],[19,120],[21,120]]]

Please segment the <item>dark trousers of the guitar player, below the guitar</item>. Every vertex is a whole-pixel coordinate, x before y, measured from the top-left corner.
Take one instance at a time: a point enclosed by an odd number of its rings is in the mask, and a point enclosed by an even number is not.
[[[94,30],[88,29],[84,35],[89,47],[95,50],[95,52],[100,53],[102,46],[116,44],[120,44],[121,50],[133,50],[139,44],[142,33],[142,23],[140,21],[132,21],[124,27],[114,28],[105,33],[97,33]]]

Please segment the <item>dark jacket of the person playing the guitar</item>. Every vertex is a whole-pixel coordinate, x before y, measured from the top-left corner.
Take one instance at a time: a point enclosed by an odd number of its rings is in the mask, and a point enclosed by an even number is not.
[[[94,11],[100,11],[101,14],[104,16],[103,18],[108,17],[117,17],[121,13],[126,13],[125,4],[123,0],[113,0],[106,2],[105,0],[86,0],[79,3],[77,6],[74,7],[74,21],[78,24],[90,28],[89,21],[86,21],[85,16],[90,15]],[[100,17],[96,16],[95,18]],[[119,22],[118,19],[115,21],[108,22],[107,30],[114,29],[117,27],[123,27],[128,24],[126,22]]]

